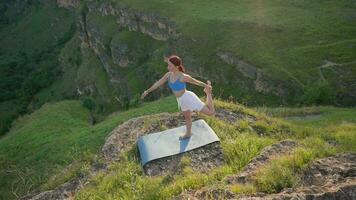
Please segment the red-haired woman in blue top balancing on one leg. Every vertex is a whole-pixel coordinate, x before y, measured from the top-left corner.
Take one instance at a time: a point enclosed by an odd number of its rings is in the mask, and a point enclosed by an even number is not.
[[[183,112],[185,122],[186,122],[186,133],[183,136],[180,136],[179,139],[189,138],[191,136],[192,129],[192,111],[200,111],[206,115],[214,115],[215,108],[213,105],[213,99],[211,96],[211,83],[207,81],[207,84],[196,80],[185,74],[185,69],[182,64],[182,59],[176,55],[172,55],[169,58],[164,58],[164,61],[167,62],[168,72],[156,83],[154,83],[149,89],[145,90],[141,99],[145,98],[145,96],[157,89],[159,86],[163,85],[166,81],[168,81],[168,86],[171,88],[173,94],[177,98],[178,107],[180,107]],[[206,103],[204,104],[196,94],[193,92],[186,90],[186,83],[192,83],[195,85],[199,85],[204,87],[204,92],[206,93]]]

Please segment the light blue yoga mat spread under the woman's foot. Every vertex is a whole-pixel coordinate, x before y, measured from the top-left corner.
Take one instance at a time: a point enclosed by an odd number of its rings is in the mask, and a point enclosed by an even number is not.
[[[184,125],[139,137],[137,145],[142,166],[158,158],[180,154],[220,141],[213,129],[203,119],[192,123],[190,138],[179,140],[179,136],[183,136],[185,131],[186,126]]]

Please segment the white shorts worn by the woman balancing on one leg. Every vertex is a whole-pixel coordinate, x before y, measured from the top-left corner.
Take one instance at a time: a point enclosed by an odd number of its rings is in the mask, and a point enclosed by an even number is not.
[[[177,98],[178,109],[181,111],[201,111],[205,104],[199,99],[199,97],[189,90],[185,91],[182,96]]]

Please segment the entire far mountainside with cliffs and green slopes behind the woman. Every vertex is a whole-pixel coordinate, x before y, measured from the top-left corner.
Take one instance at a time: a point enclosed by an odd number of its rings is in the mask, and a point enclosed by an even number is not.
[[[50,101],[95,103],[98,120],[127,109],[172,53],[224,99],[352,106],[355,7],[347,0],[2,1],[1,132]],[[150,100],[169,92],[161,88]]]

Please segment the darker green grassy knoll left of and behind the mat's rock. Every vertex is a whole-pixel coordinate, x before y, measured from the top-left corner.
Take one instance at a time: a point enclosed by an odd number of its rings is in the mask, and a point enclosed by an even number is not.
[[[175,112],[175,101],[170,96],[145,103],[113,114],[95,126],[89,125],[89,111],[80,101],[45,104],[38,111],[21,117],[0,140],[1,198],[14,199],[41,185],[50,189],[62,183],[77,174],[88,161],[85,155],[99,152],[105,137],[117,125],[136,116]],[[67,168],[72,162],[74,166]],[[52,177],[63,170],[66,173],[62,177]]]

